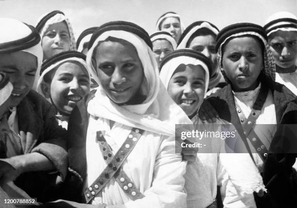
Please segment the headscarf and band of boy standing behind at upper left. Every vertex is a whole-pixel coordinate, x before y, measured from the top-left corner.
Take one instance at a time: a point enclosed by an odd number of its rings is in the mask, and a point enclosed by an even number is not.
[[[42,39],[44,36],[44,33],[47,31],[50,25],[63,22],[63,21],[66,22],[68,32],[70,35],[70,50],[76,50],[76,43],[75,43],[72,26],[69,22],[69,19],[64,15],[63,12],[55,10],[42,15],[37,20],[36,30],[39,32],[40,37]]]

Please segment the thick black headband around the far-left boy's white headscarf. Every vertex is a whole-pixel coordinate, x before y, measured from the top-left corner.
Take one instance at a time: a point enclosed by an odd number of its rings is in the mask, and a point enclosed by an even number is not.
[[[30,28],[32,32],[28,36],[23,37],[21,39],[9,41],[6,43],[1,43],[0,53],[16,52],[16,51],[28,49],[37,45],[40,42],[39,33],[36,31],[36,29],[33,26],[31,25],[27,25],[27,26]]]

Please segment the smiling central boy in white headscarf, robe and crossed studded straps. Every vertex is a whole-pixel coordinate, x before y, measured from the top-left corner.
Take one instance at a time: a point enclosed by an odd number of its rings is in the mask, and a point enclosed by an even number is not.
[[[99,88],[69,119],[66,199],[91,204],[85,207],[186,207],[175,124],[191,121],[160,83],[151,48],[148,33],[131,22],[109,22],[93,34],[86,62]]]

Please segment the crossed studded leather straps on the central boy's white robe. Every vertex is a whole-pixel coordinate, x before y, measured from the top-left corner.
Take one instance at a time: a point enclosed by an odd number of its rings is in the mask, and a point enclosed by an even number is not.
[[[92,183],[92,185],[84,192],[86,203],[89,203],[112,177],[115,177],[117,183],[121,186],[124,192],[132,198],[132,200],[144,197],[121,167],[143,132],[143,129],[132,128],[131,133],[128,135],[127,139],[115,155],[113,155],[112,150],[106,142],[102,132],[97,132],[97,142],[99,143],[103,159],[105,160],[107,166],[99,177]]]

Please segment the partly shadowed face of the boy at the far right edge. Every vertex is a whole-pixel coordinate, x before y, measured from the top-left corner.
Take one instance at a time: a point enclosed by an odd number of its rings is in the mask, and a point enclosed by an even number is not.
[[[297,60],[297,32],[277,31],[269,35],[268,43],[275,63],[281,68],[295,65]]]

